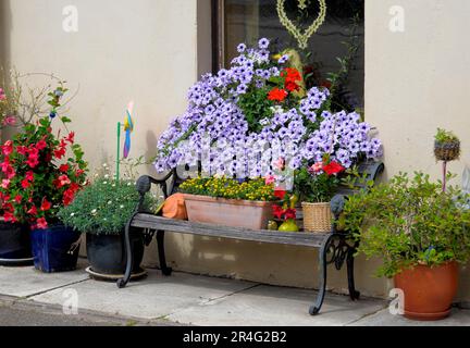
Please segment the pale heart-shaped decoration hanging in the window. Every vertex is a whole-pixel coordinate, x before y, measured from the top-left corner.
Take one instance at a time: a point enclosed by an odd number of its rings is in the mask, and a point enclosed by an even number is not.
[[[310,37],[317,33],[320,26],[326,18],[326,0],[318,0],[320,3],[320,13],[317,20],[310,25],[305,33],[301,33],[299,28],[297,28],[294,23],[287,17],[287,13],[285,12],[285,0],[277,0],[277,14],[281,21],[281,24],[287,29],[287,32],[294,36],[294,38],[298,41],[300,49],[306,49],[308,47],[308,41]],[[307,5],[304,1],[299,2],[300,9],[306,9]]]

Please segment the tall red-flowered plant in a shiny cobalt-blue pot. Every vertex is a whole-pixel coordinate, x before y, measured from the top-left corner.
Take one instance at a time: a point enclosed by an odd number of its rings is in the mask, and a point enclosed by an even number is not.
[[[60,136],[60,130],[58,135],[52,130],[57,119],[65,128],[71,122],[58,115],[66,91],[60,83],[48,94],[50,113],[33,119],[1,146],[3,219],[29,226],[34,263],[44,272],[74,270],[78,257],[79,235],[57,219],[59,208],[69,204],[86,181],[87,163],[75,134]]]

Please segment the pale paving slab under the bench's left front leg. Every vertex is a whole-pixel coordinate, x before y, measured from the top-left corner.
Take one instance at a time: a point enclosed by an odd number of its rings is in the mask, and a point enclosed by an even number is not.
[[[94,279],[32,297],[30,300],[61,304],[65,289],[75,289],[78,308],[113,315],[161,319],[189,307],[202,306],[225,298],[255,283],[174,273],[171,277],[156,270],[149,276],[119,289],[115,283]]]

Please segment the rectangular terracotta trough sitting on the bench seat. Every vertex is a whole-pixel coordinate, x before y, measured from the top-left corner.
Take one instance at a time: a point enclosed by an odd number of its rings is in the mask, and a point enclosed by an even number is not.
[[[185,195],[188,220],[222,226],[267,229],[272,203]]]

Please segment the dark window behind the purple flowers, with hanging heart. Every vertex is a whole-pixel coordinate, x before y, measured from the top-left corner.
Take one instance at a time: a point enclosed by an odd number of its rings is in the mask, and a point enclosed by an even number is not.
[[[239,42],[255,44],[260,37],[274,39],[273,49],[298,49],[297,41],[282,26],[276,0],[218,0],[219,13],[217,65],[228,65],[237,54]],[[286,0],[287,16],[302,30],[319,13],[318,0],[306,0],[307,9],[298,8],[299,0]],[[341,75],[335,88],[338,109],[363,107],[364,89],[364,0],[327,0],[326,18],[310,38],[306,50],[300,50],[306,74],[311,86],[331,87],[331,73],[338,73],[346,59],[347,72]],[[335,85],[336,86],[336,85]]]

